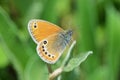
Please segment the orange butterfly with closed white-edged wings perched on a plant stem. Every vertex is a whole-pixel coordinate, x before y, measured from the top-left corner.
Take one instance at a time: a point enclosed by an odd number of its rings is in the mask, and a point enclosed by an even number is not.
[[[72,30],[65,31],[53,23],[39,19],[28,22],[28,31],[37,44],[38,55],[48,64],[56,63],[72,40],[73,33]]]

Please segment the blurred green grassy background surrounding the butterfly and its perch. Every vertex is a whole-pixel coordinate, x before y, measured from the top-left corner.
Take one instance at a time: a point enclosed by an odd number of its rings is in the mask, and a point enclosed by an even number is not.
[[[73,29],[72,57],[94,52],[62,80],[120,80],[120,0],[0,0],[0,80],[48,79],[27,30],[31,19]]]

